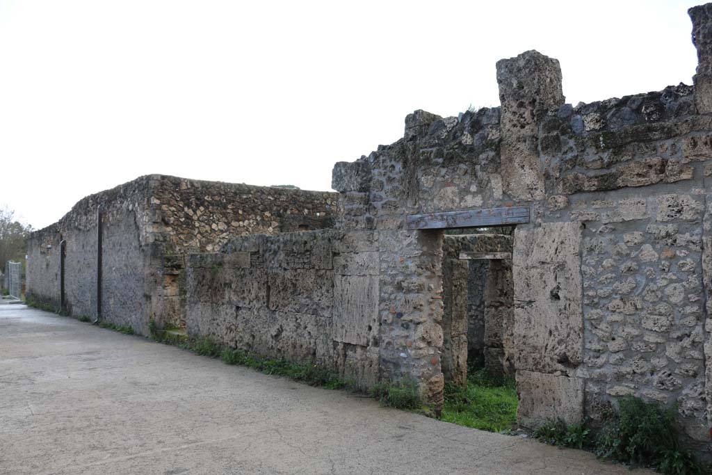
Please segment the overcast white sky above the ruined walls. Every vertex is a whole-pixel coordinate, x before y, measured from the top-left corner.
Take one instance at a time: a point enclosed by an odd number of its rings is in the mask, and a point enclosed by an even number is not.
[[[142,174],[330,189],[416,109],[498,105],[560,60],[567,102],[691,84],[683,0],[0,0],[0,205],[41,228]]]

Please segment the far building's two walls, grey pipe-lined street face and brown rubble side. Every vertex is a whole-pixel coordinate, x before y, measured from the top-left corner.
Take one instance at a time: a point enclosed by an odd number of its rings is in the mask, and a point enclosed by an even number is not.
[[[28,240],[28,296],[60,306],[66,241],[66,310],[97,315],[98,213],[102,212],[102,318],[147,333],[148,322],[182,324],[190,251],[230,236],[330,226],[334,193],[149,175],[78,202]],[[50,245],[51,247],[48,247]]]

